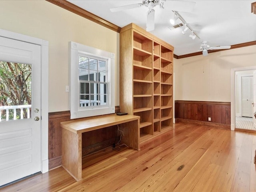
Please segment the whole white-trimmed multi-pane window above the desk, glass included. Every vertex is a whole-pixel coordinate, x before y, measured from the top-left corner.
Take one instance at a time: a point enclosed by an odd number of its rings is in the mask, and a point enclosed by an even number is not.
[[[71,119],[115,112],[115,55],[70,42]]]

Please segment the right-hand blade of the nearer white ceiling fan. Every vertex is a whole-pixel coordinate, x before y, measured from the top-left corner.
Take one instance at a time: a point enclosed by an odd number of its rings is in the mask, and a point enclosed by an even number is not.
[[[174,10],[174,11],[181,11],[181,12],[192,12],[196,2],[191,1],[165,1],[164,8],[166,10]]]

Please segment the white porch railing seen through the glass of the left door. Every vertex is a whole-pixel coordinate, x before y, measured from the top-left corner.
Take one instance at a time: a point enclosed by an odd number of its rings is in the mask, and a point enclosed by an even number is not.
[[[1,114],[2,114],[2,110],[6,110],[6,119],[5,121],[8,121],[9,120],[9,111],[10,110],[13,110],[13,120],[16,120],[17,119],[17,112],[16,110],[17,109],[20,109],[20,119],[23,119],[23,109],[27,109],[27,118],[29,119],[30,118],[30,108],[31,108],[31,105],[13,105],[13,106],[0,106],[0,122],[2,121],[2,117],[1,117]]]

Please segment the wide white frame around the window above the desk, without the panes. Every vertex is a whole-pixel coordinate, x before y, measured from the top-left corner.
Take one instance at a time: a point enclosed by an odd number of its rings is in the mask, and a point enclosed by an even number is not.
[[[83,118],[115,113],[115,54],[104,50],[82,45],[76,42],[69,42],[69,104],[70,119]],[[78,76],[78,56],[94,56],[108,60],[108,82],[107,105],[80,107],[80,81]]]

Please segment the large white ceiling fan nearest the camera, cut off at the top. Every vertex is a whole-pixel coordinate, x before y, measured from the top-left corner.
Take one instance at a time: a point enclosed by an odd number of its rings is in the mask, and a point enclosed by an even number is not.
[[[165,7],[164,7],[165,4]],[[155,18],[155,10],[154,7],[159,6],[161,9],[166,9],[170,11],[182,11],[182,12],[191,12],[195,6],[195,2],[188,1],[175,1],[175,0],[143,0],[142,3],[130,4],[115,8],[110,8],[111,12],[118,12],[138,7],[148,7],[147,12],[147,24],[146,31],[152,31],[155,28],[154,18]]]

